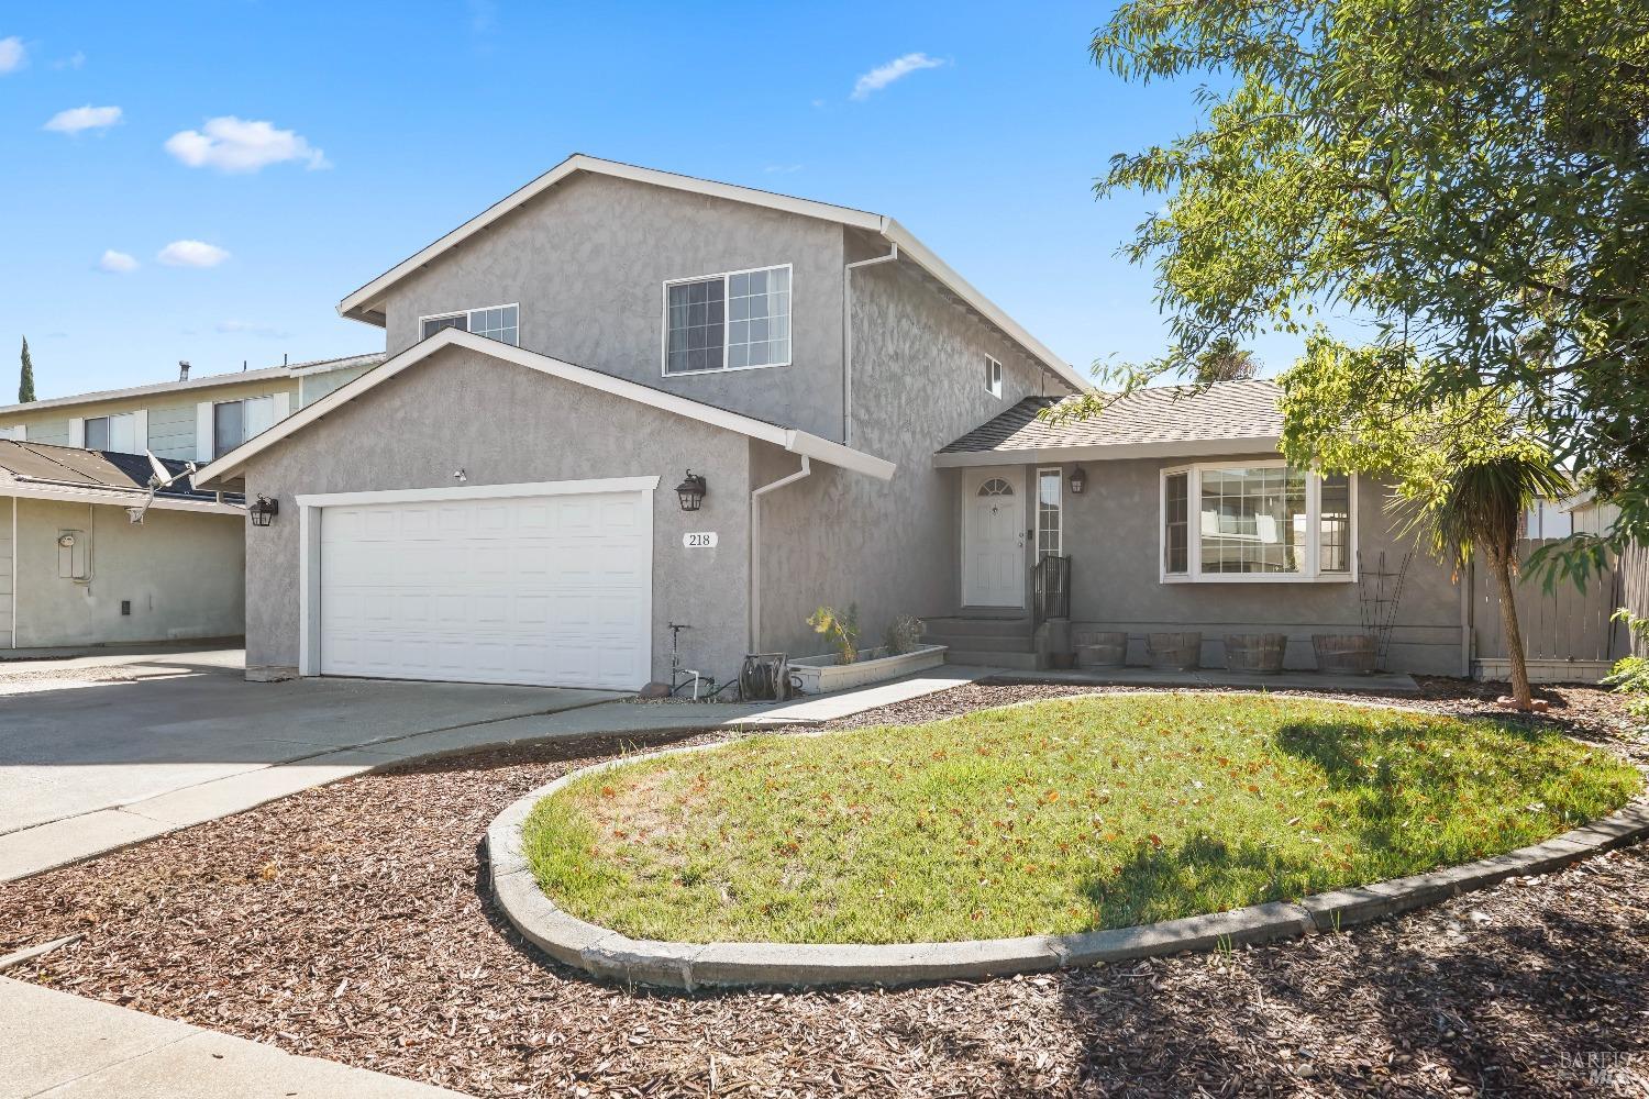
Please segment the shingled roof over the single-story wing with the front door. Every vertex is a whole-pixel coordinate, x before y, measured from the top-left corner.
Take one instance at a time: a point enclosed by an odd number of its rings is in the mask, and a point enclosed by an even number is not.
[[[1281,392],[1266,379],[1138,389],[1085,420],[1041,417],[1075,397],[1026,397],[942,447],[933,465],[1273,451],[1283,433]]]

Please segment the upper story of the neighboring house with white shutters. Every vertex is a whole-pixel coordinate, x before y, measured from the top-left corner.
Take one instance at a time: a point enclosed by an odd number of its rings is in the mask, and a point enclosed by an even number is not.
[[[384,361],[381,354],[183,377],[0,407],[0,438],[206,463]]]

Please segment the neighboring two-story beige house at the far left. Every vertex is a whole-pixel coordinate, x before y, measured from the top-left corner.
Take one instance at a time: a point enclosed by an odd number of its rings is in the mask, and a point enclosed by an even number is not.
[[[185,369],[0,407],[0,654],[239,638],[246,509],[196,491],[186,463],[206,465],[381,361]]]

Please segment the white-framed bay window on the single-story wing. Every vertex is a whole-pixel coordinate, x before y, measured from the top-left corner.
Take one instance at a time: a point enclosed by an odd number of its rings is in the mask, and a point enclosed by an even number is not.
[[[1164,580],[1347,580],[1352,483],[1281,461],[1163,473]]]

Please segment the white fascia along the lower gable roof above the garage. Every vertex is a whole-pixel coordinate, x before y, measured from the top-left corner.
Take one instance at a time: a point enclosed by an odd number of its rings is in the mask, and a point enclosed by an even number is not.
[[[818,458],[833,466],[841,466],[843,470],[853,470],[854,473],[864,473],[874,476],[881,481],[887,481],[894,476],[899,468],[892,461],[876,458],[862,450],[854,450],[851,447],[843,447],[841,443],[833,443],[828,438],[820,438],[810,432],[801,432],[793,427],[780,427],[778,423],[768,423],[767,420],[757,420],[755,417],[742,415],[739,412],[727,412],[726,409],[717,409],[716,405],[707,405],[701,400],[691,400],[688,397],[678,397],[676,394],[665,392],[663,389],[653,389],[651,386],[643,386],[640,382],[632,382],[623,377],[613,377],[612,374],[602,374],[600,371],[592,371],[584,366],[574,366],[571,362],[562,362],[561,359],[552,359],[547,354],[539,354],[536,351],[528,351],[526,348],[516,348],[508,343],[500,343],[496,339],[488,339],[486,336],[477,336],[473,333],[458,328],[444,328],[429,339],[419,341],[394,356],[383,366],[361,374],[348,386],[327,394],[320,400],[303,405],[285,420],[280,420],[274,427],[252,438],[246,440],[229,453],[223,455],[216,461],[204,466],[195,475],[196,484],[211,484],[214,481],[233,479],[242,473],[246,463],[256,455],[269,450],[280,440],[302,432],[305,427],[320,420],[322,417],[338,410],[345,404],[355,400],[364,392],[369,392],[376,386],[388,382],[391,377],[401,371],[422,362],[429,356],[450,346],[468,348],[470,351],[478,351],[482,354],[491,356],[495,359],[503,359],[505,362],[514,362],[528,369],[538,371],[539,374],[549,374],[551,377],[559,377],[576,386],[585,386],[615,397],[623,397],[625,400],[635,400],[638,404],[650,405],[653,409],[661,409],[665,412],[673,412],[674,415],[686,417],[689,420],[699,420],[701,423],[709,423],[712,427],[721,427],[729,432],[737,432],[740,435],[749,435],[750,438],[762,440],[765,443],[773,443],[775,447],[783,447],[795,455],[806,455],[810,458]]]

